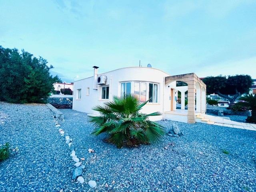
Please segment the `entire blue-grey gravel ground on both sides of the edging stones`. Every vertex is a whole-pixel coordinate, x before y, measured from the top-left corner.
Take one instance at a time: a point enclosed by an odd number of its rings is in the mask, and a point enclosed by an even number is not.
[[[0,163],[0,191],[256,191],[255,131],[175,122],[185,136],[117,149],[103,141],[106,134],[90,134],[87,114],[61,111],[61,128],[73,139],[78,158],[85,158],[84,179],[96,180],[96,188],[71,181],[74,162],[45,105],[0,102],[0,143],[20,149]],[[159,123],[168,130],[173,122]],[[175,170],[178,166],[183,171]]]

